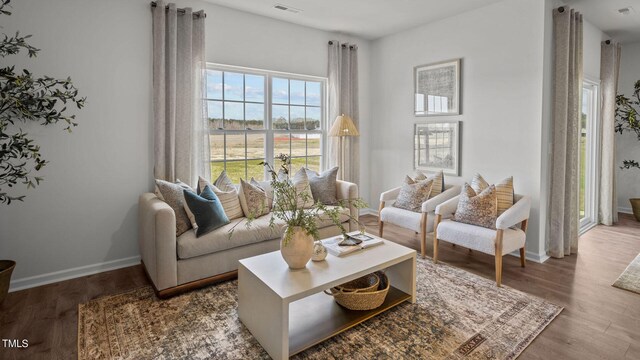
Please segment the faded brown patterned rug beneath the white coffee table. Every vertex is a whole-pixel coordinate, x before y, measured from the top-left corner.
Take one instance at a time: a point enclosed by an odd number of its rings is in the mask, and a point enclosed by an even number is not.
[[[513,359],[562,311],[543,299],[418,259],[404,303],[295,359]],[[79,305],[78,358],[268,359],[237,316],[237,280],[167,300],[150,287]]]

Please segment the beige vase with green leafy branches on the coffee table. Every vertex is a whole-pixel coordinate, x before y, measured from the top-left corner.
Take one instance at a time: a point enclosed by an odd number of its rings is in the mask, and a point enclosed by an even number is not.
[[[319,217],[329,217],[345,235],[346,230],[340,221],[342,214],[340,208],[354,206],[357,209],[362,209],[367,204],[360,198],[342,200],[338,206],[327,206],[320,202],[313,203],[312,195],[307,191],[299,192],[291,181],[289,176],[290,157],[286,154],[280,154],[277,159],[282,163],[278,172],[269,163],[260,163],[267,168],[273,189],[273,207],[269,226],[273,228],[276,219],[286,224],[287,227],[280,242],[280,251],[291,269],[301,269],[311,259],[314,241],[319,237],[317,225]],[[300,206],[301,203],[304,203],[305,206]],[[307,205],[310,206],[307,207]],[[350,215],[349,219],[361,225],[358,219]],[[249,216],[247,226],[250,226],[251,221],[252,217]]]

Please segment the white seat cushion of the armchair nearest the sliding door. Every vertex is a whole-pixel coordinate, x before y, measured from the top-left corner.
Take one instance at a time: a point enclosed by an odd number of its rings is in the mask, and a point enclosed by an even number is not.
[[[496,230],[443,220],[438,224],[438,239],[451,242],[468,249],[495,255]],[[502,236],[502,254],[508,254],[524,246],[525,234],[520,229],[506,229]]]

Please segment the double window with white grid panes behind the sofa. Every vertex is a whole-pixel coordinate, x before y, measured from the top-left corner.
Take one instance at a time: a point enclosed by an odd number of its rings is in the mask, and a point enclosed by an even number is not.
[[[261,161],[291,156],[292,170],[321,170],[326,79],[210,64],[211,173],[265,179]],[[278,165],[276,163],[276,165]]]

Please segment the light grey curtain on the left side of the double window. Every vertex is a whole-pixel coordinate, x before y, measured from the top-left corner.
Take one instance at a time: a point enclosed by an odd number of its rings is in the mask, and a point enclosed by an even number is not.
[[[210,178],[203,91],[204,12],[160,0],[153,12],[154,175],[195,185]]]

